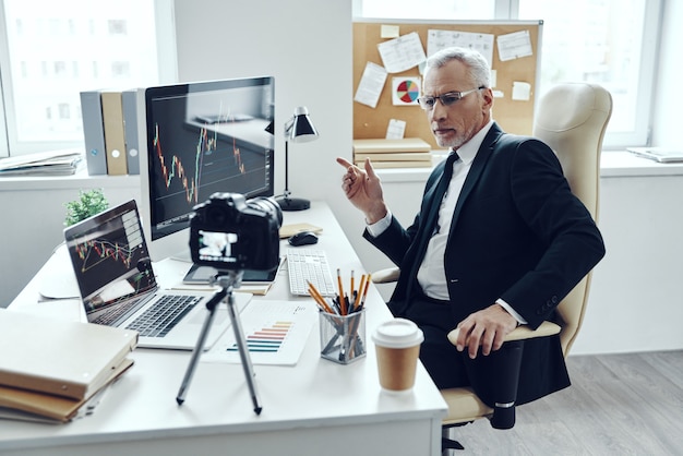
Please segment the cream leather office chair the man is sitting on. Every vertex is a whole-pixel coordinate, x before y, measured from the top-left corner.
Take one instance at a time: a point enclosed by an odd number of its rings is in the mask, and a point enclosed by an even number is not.
[[[598,219],[598,191],[600,183],[600,152],[602,139],[612,112],[612,97],[599,85],[567,83],[553,87],[540,101],[534,123],[534,136],[542,140],[558,155],[572,192],[586,205],[594,219]],[[383,269],[372,275],[375,283],[395,281],[398,268]],[[501,379],[508,392],[501,404],[514,404],[519,372],[519,359],[512,360],[505,355],[505,346],[520,344],[524,339],[547,337],[560,334],[565,358],[580,329],[588,291],[589,273],[558,305],[561,324],[544,322],[536,331],[519,326],[506,337],[506,344],[499,350],[502,355]],[[455,344],[457,329],[448,334]],[[510,343],[510,344],[508,344]],[[517,350],[518,351],[518,350]],[[518,357],[517,357],[518,358]],[[511,362],[512,361],[512,362]],[[511,365],[512,364],[512,365]],[[443,448],[462,449],[463,446],[448,439],[450,429],[469,423],[479,418],[489,418],[491,425],[510,429],[515,422],[515,409],[495,409],[483,404],[471,388],[448,388],[441,391],[448,404],[448,415],[443,420]],[[512,399],[512,400],[511,400]]]

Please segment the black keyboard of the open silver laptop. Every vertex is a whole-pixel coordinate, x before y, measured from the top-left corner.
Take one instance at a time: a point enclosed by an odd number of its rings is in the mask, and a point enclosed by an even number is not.
[[[164,337],[200,301],[196,296],[165,295],[127,329],[135,329],[144,337]]]

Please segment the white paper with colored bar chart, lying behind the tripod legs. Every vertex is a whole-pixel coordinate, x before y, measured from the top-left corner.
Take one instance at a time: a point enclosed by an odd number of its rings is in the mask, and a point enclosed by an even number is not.
[[[295,365],[317,321],[313,300],[252,300],[240,314],[247,347],[253,364]],[[204,362],[241,363],[232,328],[207,352]]]

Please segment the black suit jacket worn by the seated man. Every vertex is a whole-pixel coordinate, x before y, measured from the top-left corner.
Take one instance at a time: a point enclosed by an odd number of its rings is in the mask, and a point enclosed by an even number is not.
[[[396,315],[405,314],[420,293],[417,271],[431,236],[422,229],[422,214],[440,204],[433,193],[443,167],[438,165],[429,177],[410,227],[404,229],[394,218],[379,237],[363,235],[400,266],[388,303]],[[453,215],[444,257],[453,320],[445,324],[453,328],[502,298],[536,328],[553,319],[558,303],[603,255],[602,237],[572,194],[554,153],[538,140],[506,134],[494,123]],[[538,349],[536,343],[525,345],[519,404],[568,385],[559,339],[539,340]],[[530,384],[525,385],[525,379]]]

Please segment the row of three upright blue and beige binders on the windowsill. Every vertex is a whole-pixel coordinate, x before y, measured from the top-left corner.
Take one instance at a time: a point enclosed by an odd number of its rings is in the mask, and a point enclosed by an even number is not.
[[[139,175],[137,89],[81,92],[87,172]]]

